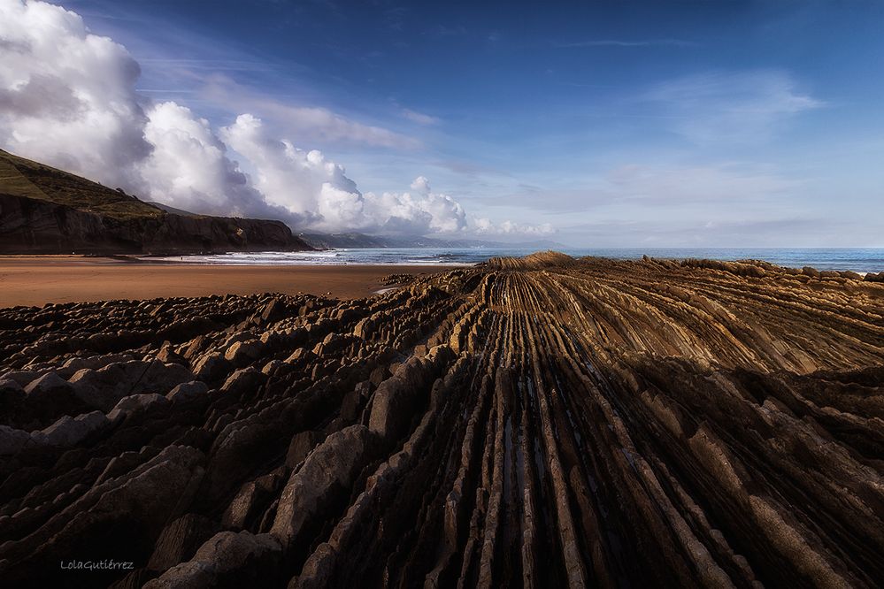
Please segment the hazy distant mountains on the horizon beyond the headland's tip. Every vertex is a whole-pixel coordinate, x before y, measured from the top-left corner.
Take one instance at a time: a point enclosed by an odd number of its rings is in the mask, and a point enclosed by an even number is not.
[[[550,240],[504,241],[444,240],[422,235],[366,235],[365,233],[298,233],[298,237],[317,249],[358,248],[516,248],[563,249],[567,246]]]

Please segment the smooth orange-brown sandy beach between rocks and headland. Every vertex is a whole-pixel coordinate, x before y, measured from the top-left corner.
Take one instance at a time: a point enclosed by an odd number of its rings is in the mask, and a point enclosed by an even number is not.
[[[168,296],[305,293],[371,296],[388,274],[428,274],[445,266],[234,266],[126,262],[108,257],[0,256],[0,307]]]

